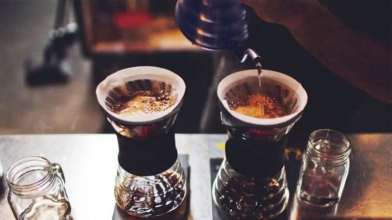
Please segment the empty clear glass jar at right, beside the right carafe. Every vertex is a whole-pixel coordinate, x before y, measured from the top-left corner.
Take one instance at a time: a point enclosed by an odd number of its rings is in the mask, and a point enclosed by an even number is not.
[[[351,145],[340,132],[314,131],[303,154],[297,196],[307,204],[331,206],[340,200],[350,166]]]

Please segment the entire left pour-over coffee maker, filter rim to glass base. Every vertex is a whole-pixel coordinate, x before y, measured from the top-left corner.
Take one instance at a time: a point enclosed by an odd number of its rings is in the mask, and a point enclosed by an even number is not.
[[[164,92],[172,97],[173,104],[162,111],[134,115],[113,111],[122,97],[138,91]],[[182,78],[157,67],[128,68],[109,75],[96,93],[119,143],[117,205],[135,217],[182,218],[188,186],[173,128],[185,93]]]

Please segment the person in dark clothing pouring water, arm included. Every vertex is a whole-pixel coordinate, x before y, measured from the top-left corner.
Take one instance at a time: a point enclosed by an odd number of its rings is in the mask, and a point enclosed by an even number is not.
[[[290,75],[307,91],[308,104],[291,136],[309,136],[320,128],[347,133],[373,131],[355,127],[364,117],[354,116],[369,96],[381,100],[378,104],[388,109],[385,115],[375,117],[390,117],[391,1],[240,1],[249,7],[247,46],[260,53],[263,69]],[[217,57],[215,86],[230,73],[255,69],[253,64],[239,64],[229,53]],[[214,89],[211,94],[216,93]],[[211,103],[205,109],[212,109]],[[219,109],[211,109],[203,115],[202,132],[217,132],[208,124],[220,124]],[[380,121],[391,127],[391,120]]]

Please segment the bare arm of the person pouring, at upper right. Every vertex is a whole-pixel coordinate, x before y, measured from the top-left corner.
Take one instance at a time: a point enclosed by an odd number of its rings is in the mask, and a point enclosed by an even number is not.
[[[351,30],[316,0],[242,1],[263,20],[286,26],[333,73],[375,98],[392,102],[390,41]]]

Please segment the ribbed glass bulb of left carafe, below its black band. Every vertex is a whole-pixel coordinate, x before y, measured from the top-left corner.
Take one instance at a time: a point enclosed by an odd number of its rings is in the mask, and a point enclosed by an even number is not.
[[[117,204],[128,215],[141,218],[163,215],[167,220],[185,213],[186,204],[182,203],[186,203],[186,188],[177,173],[155,175],[155,179],[151,179],[154,184],[138,182],[137,178],[132,175],[124,180],[128,182],[117,184],[115,188]]]

